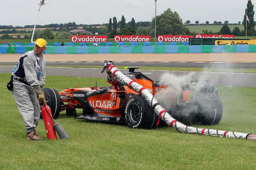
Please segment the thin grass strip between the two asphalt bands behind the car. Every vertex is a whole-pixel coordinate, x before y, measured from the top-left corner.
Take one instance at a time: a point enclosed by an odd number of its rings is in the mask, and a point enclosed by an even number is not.
[[[74,68],[102,68],[102,66],[97,65],[50,65],[48,67],[74,67]],[[119,69],[123,69],[124,66],[117,66]],[[139,67],[142,70],[176,70],[176,71],[214,71],[214,72],[246,72],[246,73],[256,73],[255,68],[225,68],[225,67]]]

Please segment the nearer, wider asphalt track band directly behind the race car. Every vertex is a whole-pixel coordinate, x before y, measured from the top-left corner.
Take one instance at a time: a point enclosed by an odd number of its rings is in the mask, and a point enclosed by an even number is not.
[[[11,73],[13,66],[0,66],[1,73]],[[127,70],[121,70],[127,72]],[[227,72],[197,72],[197,71],[165,71],[165,70],[137,70],[143,72],[152,80],[159,81],[164,72],[176,76],[191,75],[189,80],[209,80],[210,85],[237,86],[237,87],[256,87],[256,74],[246,73],[227,73]],[[101,74],[99,68],[67,68],[67,67],[47,67],[47,75],[74,76],[74,77],[93,77],[106,78],[106,73]],[[168,76],[170,77],[170,76]],[[172,80],[167,80],[172,82]]]

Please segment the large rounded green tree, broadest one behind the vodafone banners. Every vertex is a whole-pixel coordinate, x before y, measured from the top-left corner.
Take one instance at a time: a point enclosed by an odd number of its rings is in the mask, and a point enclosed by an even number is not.
[[[177,12],[172,12],[169,8],[164,11],[157,19],[158,35],[187,35],[190,31],[183,25],[182,19]],[[154,35],[155,18],[151,21],[150,35]]]

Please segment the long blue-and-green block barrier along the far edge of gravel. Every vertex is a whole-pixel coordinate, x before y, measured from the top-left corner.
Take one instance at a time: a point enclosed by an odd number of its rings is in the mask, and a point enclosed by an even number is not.
[[[24,54],[34,46],[0,46],[0,54]],[[256,53],[256,45],[47,46],[44,54]]]

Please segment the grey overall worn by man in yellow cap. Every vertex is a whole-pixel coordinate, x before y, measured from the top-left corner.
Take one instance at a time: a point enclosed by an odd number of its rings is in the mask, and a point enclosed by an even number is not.
[[[45,65],[44,56],[38,58],[33,50],[21,56],[12,71],[12,94],[28,133],[33,131],[39,122],[40,106],[34,87],[44,87]],[[25,83],[16,81],[17,79],[24,79]]]

